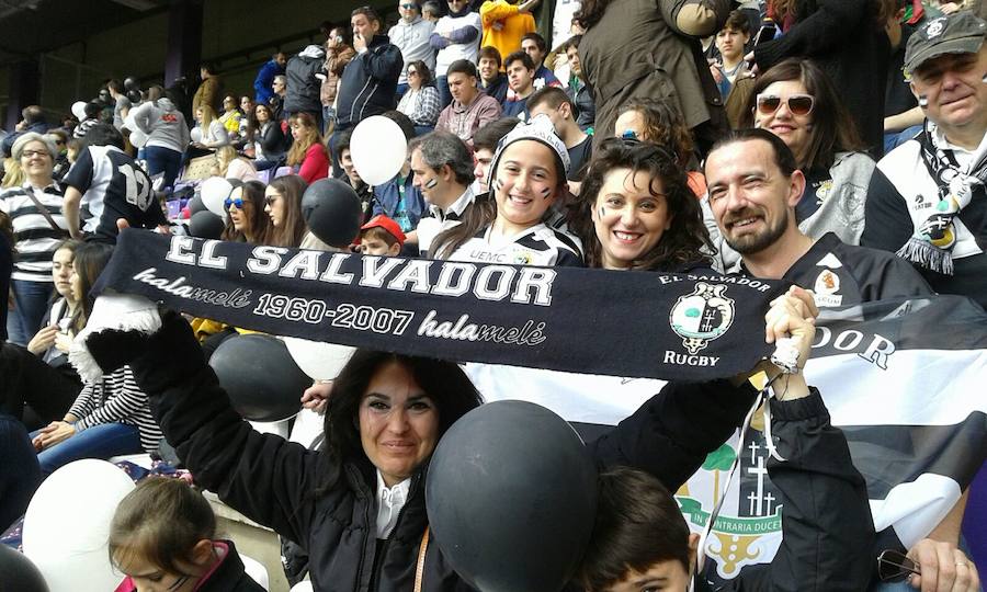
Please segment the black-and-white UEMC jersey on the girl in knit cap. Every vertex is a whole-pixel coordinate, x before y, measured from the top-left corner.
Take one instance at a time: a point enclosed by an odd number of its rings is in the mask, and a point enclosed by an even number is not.
[[[513,237],[491,240],[494,227],[487,227],[463,243],[450,261],[582,267],[582,252],[572,237],[537,224]]]

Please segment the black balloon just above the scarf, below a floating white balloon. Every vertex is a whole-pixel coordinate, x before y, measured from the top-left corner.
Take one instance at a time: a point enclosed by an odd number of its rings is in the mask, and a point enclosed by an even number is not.
[[[309,230],[332,247],[347,247],[360,232],[363,209],[360,197],[338,179],[320,179],[302,196],[302,216]]]

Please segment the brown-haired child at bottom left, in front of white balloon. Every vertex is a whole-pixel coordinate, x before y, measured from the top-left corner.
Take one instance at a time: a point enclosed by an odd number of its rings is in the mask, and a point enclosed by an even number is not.
[[[216,539],[209,503],[179,479],[150,477],[110,524],[110,560],[126,579],[116,592],[262,592],[231,540]]]

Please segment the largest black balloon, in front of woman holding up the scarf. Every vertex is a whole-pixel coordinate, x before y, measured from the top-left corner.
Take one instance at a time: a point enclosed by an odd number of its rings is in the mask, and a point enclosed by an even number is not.
[[[554,592],[597,512],[597,468],[561,418],[525,401],[463,415],[439,442],[426,503],[435,544],[484,592]]]

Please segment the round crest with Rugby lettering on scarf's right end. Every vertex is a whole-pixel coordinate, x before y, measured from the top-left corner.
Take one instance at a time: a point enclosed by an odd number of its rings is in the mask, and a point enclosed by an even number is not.
[[[719,357],[696,354],[724,335],[734,323],[734,299],[726,296],[726,289],[727,286],[722,284],[699,282],[691,294],[679,296],[669,314],[669,325],[682,338],[689,355],[666,351],[666,364],[716,365]]]

